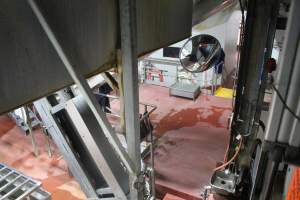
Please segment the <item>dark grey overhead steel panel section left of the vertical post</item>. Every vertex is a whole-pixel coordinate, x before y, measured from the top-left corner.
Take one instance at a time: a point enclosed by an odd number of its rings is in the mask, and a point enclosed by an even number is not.
[[[88,75],[115,51],[116,2],[39,0],[72,64]],[[26,0],[0,1],[0,113],[71,84]]]

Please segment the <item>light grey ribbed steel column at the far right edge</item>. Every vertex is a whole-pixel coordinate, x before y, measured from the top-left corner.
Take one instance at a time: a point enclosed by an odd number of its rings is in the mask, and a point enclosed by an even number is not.
[[[261,192],[253,199],[271,199],[281,163],[299,165],[300,115],[300,2],[291,1],[279,71],[273,84],[274,97],[270,108],[260,159]],[[293,113],[292,113],[293,112]],[[265,161],[267,160],[267,161]],[[289,175],[286,174],[286,181]],[[289,184],[289,182],[285,183]]]

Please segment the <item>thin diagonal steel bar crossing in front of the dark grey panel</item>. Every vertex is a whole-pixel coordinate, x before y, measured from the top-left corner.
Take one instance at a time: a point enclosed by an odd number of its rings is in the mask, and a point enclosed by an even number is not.
[[[124,148],[121,145],[117,135],[114,133],[111,125],[109,124],[105,113],[101,110],[100,105],[98,104],[94,94],[92,93],[87,81],[84,79],[83,75],[79,72],[79,70],[73,67],[63,51],[61,45],[58,43],[53,31],[49,27],[46,19],[42,15],[39,7],[36,5],[34,0],[28,0],[28,3],[36,15],[39,23],[41,24],[43,30],[45,31],[48,39],[53,45],[56,53],[58,54],[61,61],[64,63],[65,68],[67,69],[69,75],[73,79],[73,81],[77,84],[81,94],[84,96],[87,104],[91,108],[93,114],[95,115],[99,125],[102,127],[104,134],[106,135],[108,141],[113,146],[117,154],[120,156],[121,161],[126,166],[129,173],[133,173],[135,171],[134,166]]]

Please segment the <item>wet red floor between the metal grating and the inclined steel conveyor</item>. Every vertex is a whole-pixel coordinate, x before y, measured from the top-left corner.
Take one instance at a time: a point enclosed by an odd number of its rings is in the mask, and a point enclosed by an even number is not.
[[[61,159],[54,144],[53,156],[47,153],[45,137],[35,130],[39,156],[35,157],[31,139],[7,116],[0,116],[0,162],[42,182],[42,187],[52,194],[53,200],[86,199],[79,184],[69,176],[67,164]]]

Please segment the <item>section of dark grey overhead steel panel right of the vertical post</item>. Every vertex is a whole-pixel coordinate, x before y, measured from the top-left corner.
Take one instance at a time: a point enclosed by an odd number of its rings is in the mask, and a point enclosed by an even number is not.
[[[192,0],[137,0],[139,55],[190,36]]]

